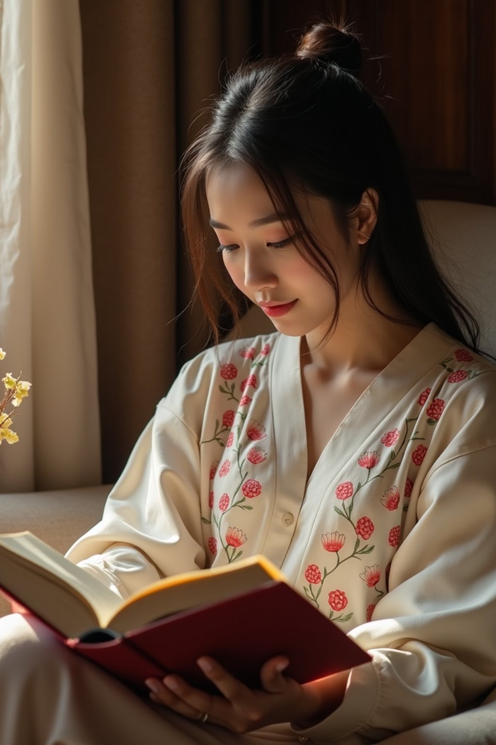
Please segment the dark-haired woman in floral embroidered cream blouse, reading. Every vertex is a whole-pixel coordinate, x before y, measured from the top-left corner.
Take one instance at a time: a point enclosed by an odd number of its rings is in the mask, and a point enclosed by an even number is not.
[[[102,522],[68,556],[126,597],[263,553],[372,662],[300,686],[277,657],[250,691],[202,658],[218,696],[170,675],[147,681],[146,703],[11,616],[2,744],[29,732],[363,744],[470,708],[495,685],[496,368],[431,259],[360,62],[355,37],[321,24],[294,57],[238,72],[216,103],[185,159],[199,296],[214,331],[210,293],[236,317],[234,287],[276,332],[184,366]]]

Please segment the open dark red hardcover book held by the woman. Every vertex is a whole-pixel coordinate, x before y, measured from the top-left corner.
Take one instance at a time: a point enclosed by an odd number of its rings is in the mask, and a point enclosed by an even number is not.
[[[270,657],[308,682],[370,661],[262,556],[178,574],[122,600],[32,533],[0,535],[0,591],[72,649],[129,685],[175,672],[212,690],[196,665],[212,656],[260,687]]]

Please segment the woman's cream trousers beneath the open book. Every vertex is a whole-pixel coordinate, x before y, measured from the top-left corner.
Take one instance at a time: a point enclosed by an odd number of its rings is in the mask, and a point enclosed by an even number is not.
[[[1,745],[265,745],[298,736],[235,735],[141,699],[33,618],[0,618]],[[340,741],[341,742],[341,741]],[[346,745],[370,742],[348,740]],[[384,745],[496,745],[496,695],[483,706],[395,735]],[[311,741],[308,741],[311,745]],[[321,745],[321,744],[319,744]]]

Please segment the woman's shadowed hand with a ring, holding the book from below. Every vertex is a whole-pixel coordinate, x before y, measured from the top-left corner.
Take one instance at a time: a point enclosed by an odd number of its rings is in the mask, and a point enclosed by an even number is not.
[[[262,689],[252,691],[210,657],[201,657],[197,662],[222,695],[205,693],[177,675],[167,675],[163,681],[146,680],[152,690],[150,699],[193,720],[208,714],[209,722],[239,733],[289,721],[302,727],[312,726],[339,706],[349,672],[300,685],[282,674],[289,660],[273,657],[260,671]]]

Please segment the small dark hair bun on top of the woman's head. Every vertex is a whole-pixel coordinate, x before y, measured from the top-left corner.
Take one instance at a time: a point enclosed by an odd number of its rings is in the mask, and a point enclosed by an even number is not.
[[[333,62],[354,77],[360,77],[361,44],[344,24],[315,24],[300,39],[295,54],[300,59]]]

